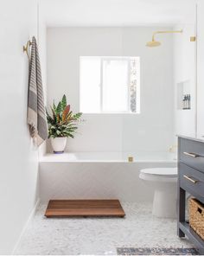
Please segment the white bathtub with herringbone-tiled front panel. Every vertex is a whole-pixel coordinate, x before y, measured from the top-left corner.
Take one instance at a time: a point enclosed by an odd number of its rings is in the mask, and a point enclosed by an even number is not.
[[[153,191],[139,179],[139,170],[175,166],[175,155],[168,152],[48,154],[40,159],[41,202],[77,198],[151,202]]]

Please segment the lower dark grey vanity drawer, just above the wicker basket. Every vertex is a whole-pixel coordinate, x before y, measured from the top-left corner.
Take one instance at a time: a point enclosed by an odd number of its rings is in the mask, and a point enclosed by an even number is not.
[[[199,170],[179,163],[179,183],[182,189],[187,190],[194,196],[204,199],[204,173]]]

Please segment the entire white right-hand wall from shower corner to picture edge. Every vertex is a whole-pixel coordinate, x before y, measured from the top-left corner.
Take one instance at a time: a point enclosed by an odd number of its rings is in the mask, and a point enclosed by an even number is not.
[[[174,40],[175,63],[175,134],[184,134],[203,139],[204,136],[204,3],[197,0],[180,28],[182,37]],[[188,22],[188,23],[186,23]],[[190,36],[196,35],[196,42],[190,42]],[[192,109],[182,111],[177,108],[178,83],[189,81],[192,94]]]

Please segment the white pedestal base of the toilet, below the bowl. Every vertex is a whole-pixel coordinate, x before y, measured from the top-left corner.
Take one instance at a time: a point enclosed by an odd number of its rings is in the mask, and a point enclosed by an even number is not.
[[[176,218],[176,188],[155,190],[152,214],[160,218]]]

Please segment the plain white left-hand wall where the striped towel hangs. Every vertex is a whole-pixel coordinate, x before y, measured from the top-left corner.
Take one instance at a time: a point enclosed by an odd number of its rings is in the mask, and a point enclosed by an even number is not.
[[[38,198],[38,156],[26,124],[28,59],[37,35],[35,0],[0,1],[0,254],[11,253]]]

